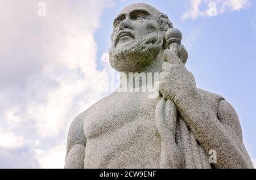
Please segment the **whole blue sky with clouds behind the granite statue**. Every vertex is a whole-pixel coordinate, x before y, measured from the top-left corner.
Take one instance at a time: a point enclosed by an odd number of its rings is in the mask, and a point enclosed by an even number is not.
[[[0,168],[63,168],[72,120],[111,92],[113,19],[135,2],[158,8],[181,30],[185,66],[198,88],[236,109],[256,167],[255,1],[2,0]]]

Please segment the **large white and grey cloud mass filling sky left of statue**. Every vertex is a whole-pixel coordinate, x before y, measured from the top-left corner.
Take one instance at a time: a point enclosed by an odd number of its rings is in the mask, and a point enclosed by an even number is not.
[[[44,2],[45,17],[38,16],[36,1],[0,2],[0,123],[5,129],[0,130],[0,165],[5,168],[13,167],[8,158],[21,160],[25,152],[35,157],[31,167],[63,168],[72,119],[100,100],[108,84],[102,80],[108,76],[108,57],[98,70],[93,33],[112,1]],[[24,153],[9,152],[24,146]]]

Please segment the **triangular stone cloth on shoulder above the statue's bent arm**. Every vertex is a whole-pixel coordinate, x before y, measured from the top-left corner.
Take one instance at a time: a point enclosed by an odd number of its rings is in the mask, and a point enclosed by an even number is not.
[[[220,100],[225,100],[224,97],[200,88],[197,88],[197,91],[200,93],[201,97],[203,97],[207,106],[217,113],[218,104]]]

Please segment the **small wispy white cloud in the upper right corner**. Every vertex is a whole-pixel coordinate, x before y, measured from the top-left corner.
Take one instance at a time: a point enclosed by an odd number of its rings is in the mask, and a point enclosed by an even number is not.
[[[250,0],[188,0],[187,11],[181,19],[196,19],[221,15],[226,11],[240,11],[250,5]]]

